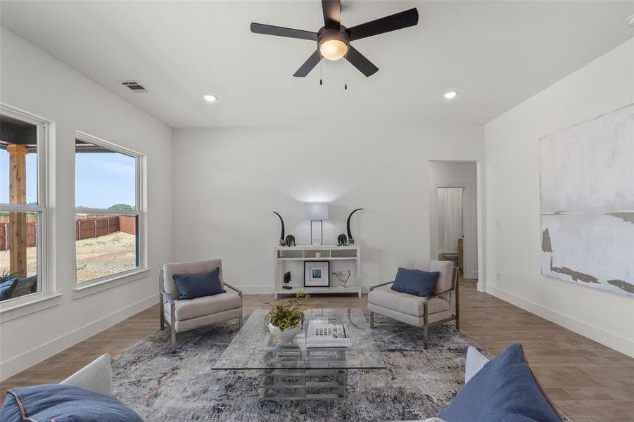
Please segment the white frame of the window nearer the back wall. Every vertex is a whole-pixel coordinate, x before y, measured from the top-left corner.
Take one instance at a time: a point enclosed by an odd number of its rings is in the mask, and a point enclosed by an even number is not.
[[[127,155],[129,157],[134,158],[134,165],[136,169],[135,173],[135,209],[132,211],[129,210],[108,210],[103,208],[77,208],[77,203],[75,203],[75,217],[77,214],[93,214],[93,215],[129,215],[131,217],[137,217],[137,262],[139,263],[137,267],[133,269],[126,269],[124,271],[119,271],[113,274],[108,274],[107,276],[96,277],[95,279],[89,279],[85,281],[76,281],[75,285],[75,298],[82,298],[85,295],[90,295],[92,293],[96,293],[101,290],[105,290],[106,288],[119,286],[122,283],[127,283],[128,281],[137,280],[140,278],[141,274],[144,274],[148,271],[148,261],[147,261],[147,249],[146,249],[146,208],[144,206],[144,168],[145,168],[145,160],[146,155],[141,154],[137,151],[133,151],[129,148],[125,148],[117,145],[116,143],[112,143],[106,141],[105,139],[98,138],[97,136],[93,136],[91,134],[87,134],[85,132],[76,131],[75,139],[77,141],[91,143],[96,146],[100,146],[101,148],[106,148],[115,153],[121,153]],[[75,152],[75,157],[77,152]],[[75,178],[77,174],[75,173]],[[77,181],[75,180],[75,186],[77,186]],[[77,201],[77,198],[75,198]],[[77,267],[77,250],[75,250],[75,267]],[[75,270],[75,274],[77,271]]]

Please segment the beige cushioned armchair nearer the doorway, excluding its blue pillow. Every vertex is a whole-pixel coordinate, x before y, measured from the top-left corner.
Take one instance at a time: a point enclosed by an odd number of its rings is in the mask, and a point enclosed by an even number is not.
[[[448,321],[456,321],[460,328],[458,269],[450,261],[409,260],[400,267],[438,271],[438,280],[429,298],[400,293],[392,290],[392,283],[382,283],[370,288],[367,308],[370,311],[370,326],[374,328],[374,313],[423,328],[423,343],[429,348],[428,328]]]

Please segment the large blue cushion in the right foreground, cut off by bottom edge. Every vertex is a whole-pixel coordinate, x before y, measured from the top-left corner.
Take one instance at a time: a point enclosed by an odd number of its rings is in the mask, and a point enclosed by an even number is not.
[[[519,343],[485,364],[438,417],[448,422],[562,421]]]

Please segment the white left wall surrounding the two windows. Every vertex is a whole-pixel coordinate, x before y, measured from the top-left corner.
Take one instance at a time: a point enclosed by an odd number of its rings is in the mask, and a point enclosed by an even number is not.
[[[0,43],[0,101],[54,122],[47,250],[50,282],[63,293],[57,306],[2,320],[0,378],[4,379],[157,302],[158,267],[172,255],[172,134],[170,127],[4,28]],[[147,155],[152,271],[136,281],[73,299],[77,129]]]

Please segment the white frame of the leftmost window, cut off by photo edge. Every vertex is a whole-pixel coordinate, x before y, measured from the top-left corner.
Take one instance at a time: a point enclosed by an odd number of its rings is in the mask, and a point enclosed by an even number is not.
[[[39,303],[41,303],[41,305],[38,305],[39,309],[45,309],[46,307],[56,305],[56,303],[46,305],[44,302],[52,298],[58,298],[60,295],[55,294],[55,286],[53,286],[53,283],[49,281],[49,277],[47,276],[48,257],[46,250],[48,246],[48,217],[46,211],[49,187],[49,155],[47,153],[47,146],[51,137],[50,129],[52,122],[50,120],[46,120],[44,117],[28,113],[25,110],[8,106],[8,104],[5,103],[0,103],[0,114],[12,117],[16,120],[34,124],[37,127],[37,205],[0,204],[0,211],[34,212],[37,213],[39,217],[35,226],[35,246],[37,248],[37,291],[35,293],[31,293],[30,295],[24,295],[19,298],[3,300],[0,302],[0,314],[3,314],[2,321],[8,321],[9,319],[13,319],[13,317],[5,316],[5,312]]]

